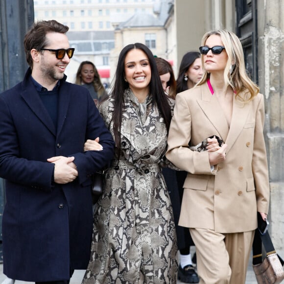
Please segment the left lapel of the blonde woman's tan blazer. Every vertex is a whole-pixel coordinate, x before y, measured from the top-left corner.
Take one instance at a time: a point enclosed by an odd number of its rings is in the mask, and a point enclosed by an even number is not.
[[[216,129],[216,135],[223,141],[227,139],[229,126],[216,97],[211,94],[207,84],[201,85],[201,99],[197,103]]]

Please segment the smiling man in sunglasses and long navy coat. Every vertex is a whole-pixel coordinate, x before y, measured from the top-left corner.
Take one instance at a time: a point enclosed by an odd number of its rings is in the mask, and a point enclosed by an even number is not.
[[[30,68],[0,95],[3,265],[11,279],[66,284],[90,259],[91,178],[108,166],[114,141],[89,91],[66,82],[68,29],[35,23],[24,39]],[[97,137],[99,150],[84,152]]]

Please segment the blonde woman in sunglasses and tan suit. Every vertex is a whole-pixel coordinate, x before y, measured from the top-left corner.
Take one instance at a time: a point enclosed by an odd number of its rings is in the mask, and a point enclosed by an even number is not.
[[[264,99],[247,76],[242,46],[225,29],[202,39],[203,78],[177,95],[166,157],[188,172],[179,225],[196,245],[200,284],[244,284],[257,212],[266,218],[269,182]],[[193,151],[210,136],[216,151]]]

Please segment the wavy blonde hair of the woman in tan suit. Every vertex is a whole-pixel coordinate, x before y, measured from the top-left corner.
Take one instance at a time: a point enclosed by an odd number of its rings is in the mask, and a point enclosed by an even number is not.
[[[223,46],[228,55],[228,61],[224,70],[224,82],[226,86],[231,86],[236,92],[236,98],[247,102],[253,99],[260,92],[260,88],[249,78],[245,69],[243,48],[237,35],[227,29],[218,29],[208,31],[204,34],[201,45],[204,46],[211,35],[218,35],[221,38]],[[201,61],[204,69],[204,55],[201,55]],[[201,80],[196,86],[207,81],[210,73],[205,71]],[[244,97],[240,93],[244,92]]]

